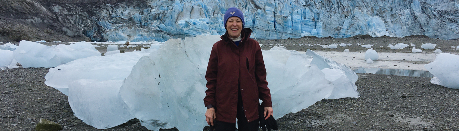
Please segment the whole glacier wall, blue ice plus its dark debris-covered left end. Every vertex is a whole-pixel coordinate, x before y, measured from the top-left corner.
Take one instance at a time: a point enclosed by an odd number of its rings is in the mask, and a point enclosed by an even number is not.
[[[222,17],[229,7],[244,12],[246,27],[252,28],[252,37],[258,39],[358,34],[459,38],[457,0],[19,1],[22,4],[11,6],[11,10],[0,10],[0,16],[93,41],[164,42],[202,34],[222,35]],[[37,8],[26,8],[27,2]],[[10,8],[8,4],[1,7]],[[10,19],[5,20],[7,25]],[[4,28],[0,26],[0,30]]]

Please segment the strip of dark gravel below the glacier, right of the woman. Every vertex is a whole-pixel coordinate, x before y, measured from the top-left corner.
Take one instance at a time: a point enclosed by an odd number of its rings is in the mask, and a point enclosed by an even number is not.
[[[317,37],[302,37],[298,39],[282,39],[282,40],[258,40],[260,44],[263,44],[263,50],[269,50],[271,47],[274,46],[284,46],[287,50],[296,50],[296,51],[307,51],[307,49],[313,51],[344,51],[344,49],[349,49],[351,52],[365,52],[368,48],[364,48],[362,46],[358,46],[357,43],[361,45],[373,45],[373,50],[376,52],[411,52],[413,47],[411,44],[416,45],[416,49],[421,49],[423,52],[433,52],[434,50],[431,49],[424,49],[421,48],[422,44],[425,43],[432,43],[437,44],[435,49],[441,49],[442,52],[453,52],[457,53],[459,50],[456,50],[454,47],[459,46],[459,39],[458,40],[440,40],[440,39],[432,39],[426,36],[408,36],[403,38],[398,37],[371,37],[369,35],[358,35],[349,38],[339,38],[335,39],[332,37],[328,38],[317,38]],[[335,49],[330,48],[322,48],[321,45],[330,45],[330,44],[341,44],[341,43],[351,43],[352,46],[341,47],[338,45]],[[392,44],[395,45],[397,43],[405,43],[410,46],[405,47],[403,49],[391,49],[387,47],[387,45]],[[314,45],[313,47],[309,47],[308,44]],[[382,46],[382,47],[381,47]],[[440,48],[438,48],[440,47]]]

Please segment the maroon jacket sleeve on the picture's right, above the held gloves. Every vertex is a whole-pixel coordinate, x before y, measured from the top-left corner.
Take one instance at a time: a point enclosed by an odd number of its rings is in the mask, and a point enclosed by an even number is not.
[[[272,107],[271,92],[266,81],[266,68],[264,67],[263,54],[258,42],[256,42],[255,52],[255,79],[257,79],[258,98],[263,100],[261,106]]]

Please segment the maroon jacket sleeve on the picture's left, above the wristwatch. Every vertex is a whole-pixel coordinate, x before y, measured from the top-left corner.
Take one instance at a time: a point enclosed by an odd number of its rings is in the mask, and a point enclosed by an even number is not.
[[[215,101],[215,89],[217,88],[217,72],[218,72],[218,55],[217,43],[213,44],[212,51],[210,52],[209,63],[207,64],[206,80],[207,90],[206,97],[204,97],[204,106],[217,105]]]

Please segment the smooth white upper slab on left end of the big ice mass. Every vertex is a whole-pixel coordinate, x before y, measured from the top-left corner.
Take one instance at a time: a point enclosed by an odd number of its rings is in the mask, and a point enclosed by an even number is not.
[[[123,80],[128,77],[132,67],[147,52],[126,52],[108,56],[81,58],[50,68],[45,75],[45,84],[68,94],[68,85],[79,79],[98,81]]]

